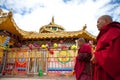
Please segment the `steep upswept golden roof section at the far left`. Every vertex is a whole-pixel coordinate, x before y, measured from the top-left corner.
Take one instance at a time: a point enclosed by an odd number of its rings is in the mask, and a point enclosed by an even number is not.
[[[12,12],[0,14],[0,30],[6,30],[9,31],[17,36],[21,35],[21,29],[18,28],[18,26],[15,24],[14,19],[12,18]]]

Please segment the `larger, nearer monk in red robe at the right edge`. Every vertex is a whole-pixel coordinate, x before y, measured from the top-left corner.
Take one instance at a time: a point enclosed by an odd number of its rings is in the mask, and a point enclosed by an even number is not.
[[[93,80],[120,80],[120,23],[103,15],[98,18],[97,27],[100,33],[91,58],[95,64]]]

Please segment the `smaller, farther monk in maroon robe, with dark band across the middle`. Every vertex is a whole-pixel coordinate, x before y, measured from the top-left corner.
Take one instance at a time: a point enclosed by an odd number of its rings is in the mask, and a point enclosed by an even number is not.
[[[78,55],[74,66],[76,80],[92,80],[90,59],[92,57],[92,47],[85,43],[83,38],[78,39]]]

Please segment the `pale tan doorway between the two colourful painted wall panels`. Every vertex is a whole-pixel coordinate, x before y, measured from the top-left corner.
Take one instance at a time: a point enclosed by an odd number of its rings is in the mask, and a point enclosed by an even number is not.
[[[43,73],[46,73],[46,54],[46,50],[29,52],[28,74],[38,74],[40,70],[42,70]]]

